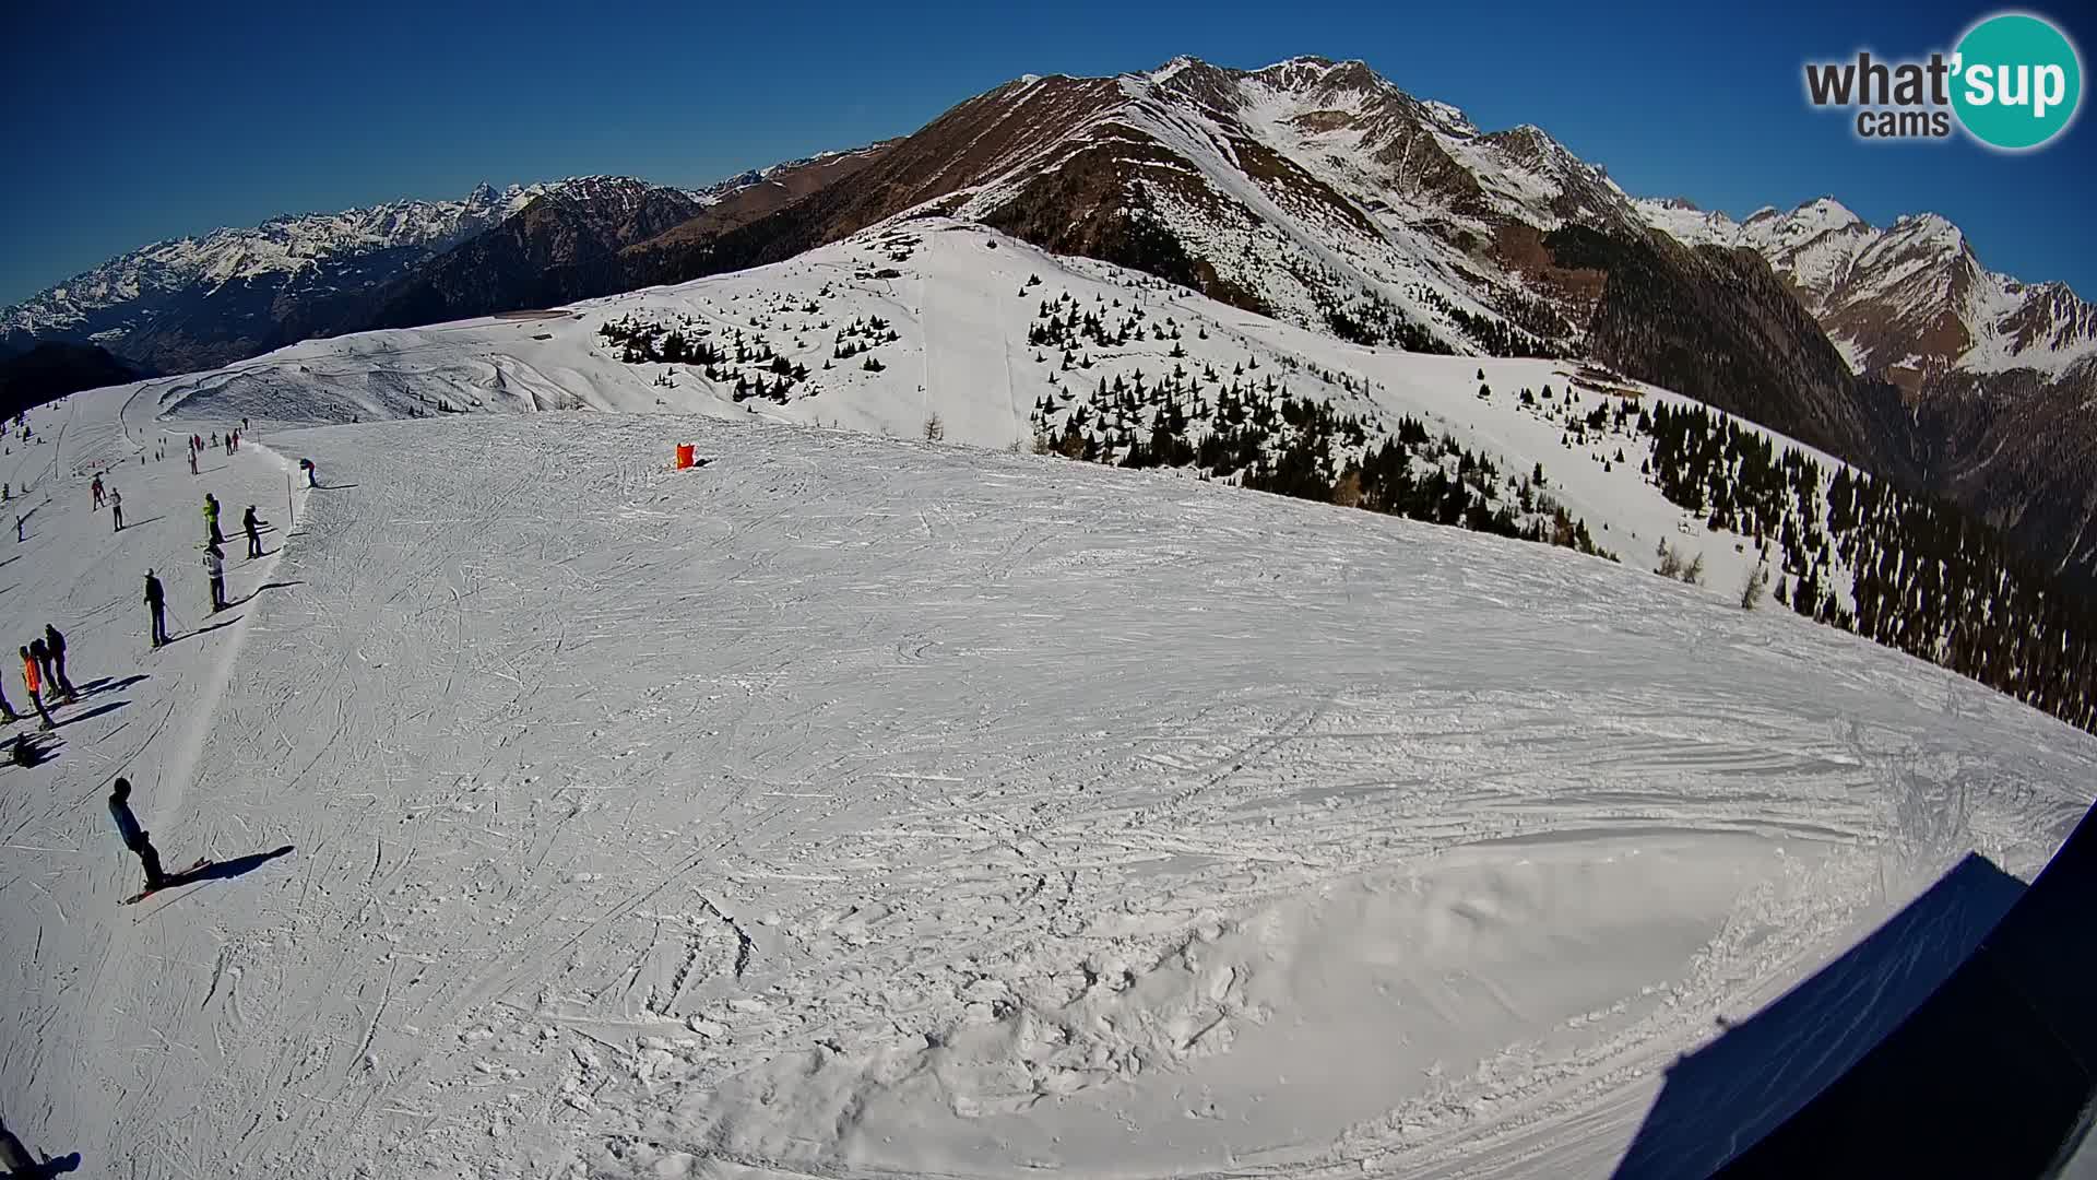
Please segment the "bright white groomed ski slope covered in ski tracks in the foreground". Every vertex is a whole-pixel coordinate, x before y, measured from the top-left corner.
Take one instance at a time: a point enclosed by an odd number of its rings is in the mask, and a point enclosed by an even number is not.
[[[1004,367],[994,304],[898,290],[921,349]],[[25,1142],[168,1180],[1608,1176],[1722,1020],[1969,850],[2030,876],[2091,800],[2097,741],[2034,710],[1566,550],[820,399],[312,424],[396,405],[403,355],[648,407],[656,370],[539,332],[317,344],[8,439],[0,592],[88,689],[0,792]],[[866,397],[904,422],[960,372],[891,357]],[[201,477],[140,462],[241,414]],[[275,525],[216,621],[206,489]],[[170,867],[239,876],[120,907],[115,775]]]

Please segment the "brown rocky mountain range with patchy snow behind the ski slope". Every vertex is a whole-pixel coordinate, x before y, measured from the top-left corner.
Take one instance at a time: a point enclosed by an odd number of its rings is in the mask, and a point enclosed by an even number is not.
[[[149,246],[0,313],[191,370],[304,336],[549,307],[975,220],[1344,340],[1590,357],[1944,493],[2097,577],[2097,313],[1923,214],[1734,223],[1640,199],[1537,126],[1480,130],[1359,61],[1019,78],[904,139],[705,191],[476,189]]]

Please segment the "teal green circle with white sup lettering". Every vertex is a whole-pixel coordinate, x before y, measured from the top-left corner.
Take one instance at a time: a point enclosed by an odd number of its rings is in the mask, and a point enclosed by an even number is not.
[[[1988,17],[1959,38],[1952,61],[1952,109],[1988,147],[2038,147],[2068,130],[2082,103],[2082,59],[2042,17]]]

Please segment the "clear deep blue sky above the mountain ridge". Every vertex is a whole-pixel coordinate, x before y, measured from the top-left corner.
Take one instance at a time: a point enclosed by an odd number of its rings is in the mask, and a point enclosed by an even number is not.
[[[916,130],[1019,73],[1359,57],[1640,195],[1933,210],[1992,269],[2097,298],[2097,118],[2051,147],[1858,143],[1801,65],[1948,50],[1992,6],[57,4],[0,17],[0,304],[159,237],[589,172],[700,185]],[[2063,23],[2089,65],[2097,17]],[[2097,103],[2089,99],[2084,105]]]

